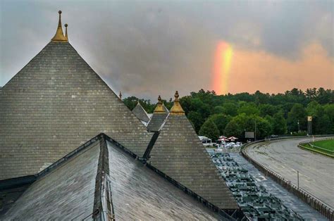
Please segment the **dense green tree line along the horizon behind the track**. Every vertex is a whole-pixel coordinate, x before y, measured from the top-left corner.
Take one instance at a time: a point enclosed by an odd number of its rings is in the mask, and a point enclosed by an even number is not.
[[[147,113],[153,113],[156,103],[130,96],[123,99],[132,110],[140,101]],[[334,134],[334,90],[292,89],[285,93],[264,94],[256,91],[216,95],[215,91],[191,92],[180,98],[194,130],[213,140],[220,135],[245,138],[254,132],[263,139],[275,135],[307,134],[307,116],[312,116],[312,134]],[[168,109],[173,99],[163,100]]]

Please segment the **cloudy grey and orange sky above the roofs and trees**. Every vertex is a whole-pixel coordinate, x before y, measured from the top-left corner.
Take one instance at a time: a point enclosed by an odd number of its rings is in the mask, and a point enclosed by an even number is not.
[[[116,94],[164,99],[212,90],[219,42],[233,48],[227,89],[334,89],[333,1],[0,0],[0,87],[63,24]]]

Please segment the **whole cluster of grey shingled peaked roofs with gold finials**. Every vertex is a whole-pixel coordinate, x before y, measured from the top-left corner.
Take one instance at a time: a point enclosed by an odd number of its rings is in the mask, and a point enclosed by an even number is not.
[[[240,216],[178,92],[169,113],[160,101],[154,115],[161,118],[147,132],[70,45],[59,13],[51,42],[0,90],[0,214],[5,220]]]

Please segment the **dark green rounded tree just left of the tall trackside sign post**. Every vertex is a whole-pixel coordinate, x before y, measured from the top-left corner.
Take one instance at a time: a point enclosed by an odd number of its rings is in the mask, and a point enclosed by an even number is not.
[[[287,114],[287,130],[297,132],[298,124],[299,130],[307,130],[307,112],[302,104],[295,103]]]

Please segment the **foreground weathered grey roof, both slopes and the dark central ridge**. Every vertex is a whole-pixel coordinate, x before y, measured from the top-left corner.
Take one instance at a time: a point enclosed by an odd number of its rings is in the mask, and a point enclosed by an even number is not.
[[[224,219],[129,153],[99,134],[36,175],[0,220]]]

